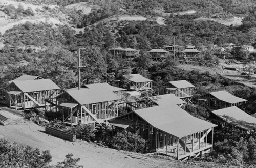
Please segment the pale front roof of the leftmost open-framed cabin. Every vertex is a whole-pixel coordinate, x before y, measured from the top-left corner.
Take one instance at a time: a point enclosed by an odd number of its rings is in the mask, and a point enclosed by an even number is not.
[[[22,92],[60,89],[51,79],[14,80],[11,83],[14,83]],[[11,85],[11,83],[9,85]]]

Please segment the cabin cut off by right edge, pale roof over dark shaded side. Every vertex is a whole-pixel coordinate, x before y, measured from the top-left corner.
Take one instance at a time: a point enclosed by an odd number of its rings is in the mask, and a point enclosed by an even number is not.
[[[256,118],[236,106],[213,110],[209,120],[221,129],[237,128],[244,132],[255,132]]]

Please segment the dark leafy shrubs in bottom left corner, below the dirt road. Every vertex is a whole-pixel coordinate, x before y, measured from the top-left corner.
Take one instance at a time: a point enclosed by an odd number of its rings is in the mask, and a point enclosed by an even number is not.
[[[66,155],[66,160],[50,166],[52,156],[49,150],[42,151],[29,146],[11,143],[7,139],[0,139],[0,166],[1,167],[83,167],[77,165],[80,158],[72,158],[72,154]]]

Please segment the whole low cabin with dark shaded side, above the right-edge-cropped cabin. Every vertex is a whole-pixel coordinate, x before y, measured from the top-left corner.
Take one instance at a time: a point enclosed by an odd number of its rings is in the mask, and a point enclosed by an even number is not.
[[[246,103],[246,101],[247,100],[236,97],[227,91],[218,91],[200,96],[197,99],[197,104],[209,110],[216,110],[242,105]]]

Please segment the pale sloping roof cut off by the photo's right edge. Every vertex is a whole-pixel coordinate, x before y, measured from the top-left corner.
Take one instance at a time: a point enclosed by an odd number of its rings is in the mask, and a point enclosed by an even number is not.
[[[256,118],[248,115],[236,106],[214,110],[212,113],[234,126],[246,130],[256,128]]]

